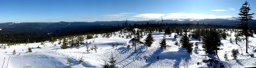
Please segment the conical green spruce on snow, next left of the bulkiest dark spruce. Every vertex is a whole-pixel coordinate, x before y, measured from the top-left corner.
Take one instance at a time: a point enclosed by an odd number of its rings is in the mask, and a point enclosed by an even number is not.
[[[190,41],[191,41],[191,40],[190,40],[189,37],[187,36],[187,33],[183,34],[183,35],[182,35],[182,38],[181,38],[181,40],[180,40],[182,47],[183,47],[183,48],[187,48],[187,51],[188,51],[189,53],[191,53],[192,50],[193,50],[193,48],[192,48],[192,47],[193,47],[193,43],[191,43]]]

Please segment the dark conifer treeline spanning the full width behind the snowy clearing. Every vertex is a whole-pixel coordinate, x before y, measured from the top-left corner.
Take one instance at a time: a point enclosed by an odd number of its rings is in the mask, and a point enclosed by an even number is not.
[[[9,32],[9,31],[0,31],[0,43],[13,43],[13,44],[19,44],[19,43],[34,43],[34,42],[42,42],[47,40],[53,40],[53,39],[60,39],[64,37],[70,37],[70,36],[79,36],[79,35],[90,35],[93,36],[95,34],[110,34],[112,32],[120,31],[121,29],[124,29],[126,26],[116,26],[116,27],[109,27],[104,29],[97,29],[97,30],[90,30],[85,32],[79,32],[79,33],[70,33],[70,34],[61,34],[61,35],[38,35],[38,34],[32,34],[32,33],[15,33],[15,32]],[[198,36],[201,36],[204,34],[204,30],[206,29],[236,29],[234,26],[224,26],[224,25],[213,25],[213,24],[192,24],[192,23],[142,23],[142,24],[128,24],[127,28],[124,29],[124,31],[127,32],[134,32],[134,28],[140,29],[140,32],[164,32],[168,31],[169,33],[177,33],[181,34],[182,32],[193,32],[197,33],[196,31],[192,30],[198,30],[200,29],[200,34],[195,35],[198,38]],[[256,30],[256,28],[251,28],[251,30]],[[121,30],[122,31],[122,30]],[[92,37],[93,38],[93,37]]]

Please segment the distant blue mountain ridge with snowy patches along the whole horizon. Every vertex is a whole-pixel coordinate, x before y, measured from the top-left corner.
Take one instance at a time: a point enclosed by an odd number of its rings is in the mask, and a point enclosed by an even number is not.
[[[122,27],[123,21],[95,21],[95,22],[8,22],[0,23],[0,29],[11,32],[28,32],[42,35],[59,35],[76,32],[84,32],[89,30]],[[142,24],[142,23],[162,23],[161,19],[151,19],[142,21],[128,21],[128,24]],[[164,19],[164,23],[199,23],[199,24],[215,24],[226,26],[237,26],[240,23],[238,17],[230,17],[226,19]],[[256,27],[256,20],[248,22],[250,27]]]

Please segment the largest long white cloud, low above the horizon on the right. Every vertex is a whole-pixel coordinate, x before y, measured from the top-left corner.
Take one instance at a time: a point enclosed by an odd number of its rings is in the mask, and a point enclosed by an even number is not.
[[[214,19],[214,18],[228,18],[232,16],[216,16],[216,15],[205,15],[205,14],[191,14],[191,13],[169,13],[169,14],[139,14],[133,17],[142,17],[149,19],[179,19],[179,18],[190,18],[190,19]]]

